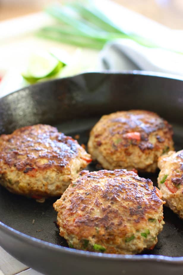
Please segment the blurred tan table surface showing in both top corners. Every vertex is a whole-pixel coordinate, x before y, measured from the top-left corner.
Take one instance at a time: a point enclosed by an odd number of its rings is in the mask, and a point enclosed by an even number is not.
[[[102,1],[102,0],[99,0]],[[183,29],[182,0],[113,0],[170,28]],[[43,9],[53,0],[0,0],[0,20],[5,20]],[[59,1],[61,3],[67,1]]]

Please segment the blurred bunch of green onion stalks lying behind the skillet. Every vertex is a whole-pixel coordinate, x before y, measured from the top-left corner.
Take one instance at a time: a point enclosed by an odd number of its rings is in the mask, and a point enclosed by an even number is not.
[[[47,7],[45,12],[58,23],[40,29],[37,36],[41,38],[98,50],[102,49],[108,41],[119,38],[131,39],[148,48],[162,48],[158,43],[145,37],[127,33],[121,26],[114,24],[92,1],[54,4]],[[174,51],[168,46],[164,49]]]

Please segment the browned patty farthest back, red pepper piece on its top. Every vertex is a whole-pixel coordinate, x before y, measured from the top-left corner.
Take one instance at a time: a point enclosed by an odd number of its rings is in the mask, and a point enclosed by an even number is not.
[[[104,115],[93,127],[88,150],[105,169],[155,172],[160,155],[173,149],[172,128],[156,113],[144,110]]]

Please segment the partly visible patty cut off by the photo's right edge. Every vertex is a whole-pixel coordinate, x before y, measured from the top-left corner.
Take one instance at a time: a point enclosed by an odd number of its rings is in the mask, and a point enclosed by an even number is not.
[[[158,159],[158,187],[167,205],[183,218],[183,150],[170,151]]]

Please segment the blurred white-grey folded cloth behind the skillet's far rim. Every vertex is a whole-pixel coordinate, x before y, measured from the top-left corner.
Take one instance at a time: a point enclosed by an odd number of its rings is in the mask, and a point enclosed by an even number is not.
[[[107,43],[100,53],[100,69],[145,70],[183,75],[183,54],[147,48],[130,39]]]

